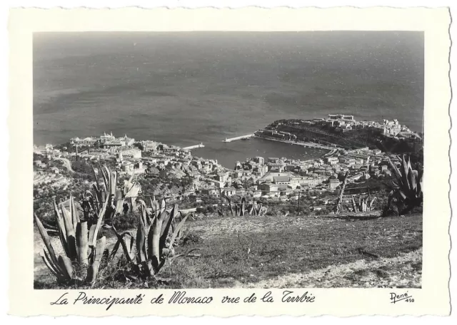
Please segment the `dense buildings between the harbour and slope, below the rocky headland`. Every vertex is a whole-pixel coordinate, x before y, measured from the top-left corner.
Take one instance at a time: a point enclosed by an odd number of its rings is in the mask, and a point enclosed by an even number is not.
[[[396,156],[391,160],[399,164]],[[381,150],[361,148],[335,151],[315,160],[255,157],[236,162],[233,172],[222,180],[230,181],[226,184],[229,187],[237,180],[247,180],[251,190],[260,191],[263,197],[281,197],[297,190],[336,190],[346,172],[347,182],[391,175],[387,155]]]

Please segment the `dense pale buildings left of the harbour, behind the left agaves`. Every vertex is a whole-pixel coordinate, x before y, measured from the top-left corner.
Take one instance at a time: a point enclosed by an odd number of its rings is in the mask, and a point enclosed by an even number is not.
[[[221,174],[226,169],[217,160],[195,158],[190,150],[175,145],[152,140],[135,142],[126,135],[115,138],[112,133],[104,133],[99,138],[71,138],[69,143],[76,147],[76,152],[69,154],[52,145],[35,147],[34,150],[49,159],[77,155],[83,160],[115,162],[116,169],[121,173],[141,173],[146,177],[159,174],[176,178],[191,177],[195,188],[214,187],[215,184],[221,187],[228,180]],[[45,167],[41,162],[35,165]]]

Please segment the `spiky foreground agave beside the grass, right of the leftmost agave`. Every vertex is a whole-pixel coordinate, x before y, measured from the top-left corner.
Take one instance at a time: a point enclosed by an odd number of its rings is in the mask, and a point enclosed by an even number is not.
[[[165,200],[162,200],[161,204],[156,200],[151,200],[151,209],[146,207],[143,200],[139,200],[139,211],[135,239],[128,232],[119,234],[115,227],[106,226],[113,229],[118,238],[110,259],[114,257],[119,246],[121,246],[127,262],[136,269],[142,278],[154,278],[167,261],[171,262],[176,257],[190,253],[176,255],[174,252],[174,246],[181,228],[189,215],[182,217],[181,222],[174,227],[174,221],[180,214],[178,205],[174,205],[171,212],[167,212]],[[129,242],[126,242],[126,237],[130,237]],[[133,254],[134,242],[136,244],[136,258]]]

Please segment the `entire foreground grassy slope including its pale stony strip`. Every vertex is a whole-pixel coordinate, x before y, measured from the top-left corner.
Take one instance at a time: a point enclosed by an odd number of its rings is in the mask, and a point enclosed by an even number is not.
[[[164,287],[420,287],[422,215],[205,218],[188,228],[201,240],[179,252],[199,248],[201,257],[166,267]],[[48,287],[40,273],[36,287]]]

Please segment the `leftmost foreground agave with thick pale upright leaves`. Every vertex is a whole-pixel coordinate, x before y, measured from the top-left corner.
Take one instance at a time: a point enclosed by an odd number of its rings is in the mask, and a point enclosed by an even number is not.
[[[66,210],[64,204],[59,207],[54,201],[54,212],[59,229],[59,239],[64,255],[56,255],[56,251],[51,244],[49,234],[35,215],[36,225],[43,239],[45,248],[41,258],[46,267],[54,274],[59,282],[81,281],[76,269],[87,267],[85,282],[94,283],[101,258],[106,247],[106,238],[97,239],[101,228],[106,203],[102,207],[101,213],[95,225],[88,231],[87,222],[81,222],[78,211],[74,204],[74,199],[70,196],[70,210]]]

